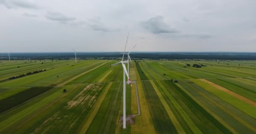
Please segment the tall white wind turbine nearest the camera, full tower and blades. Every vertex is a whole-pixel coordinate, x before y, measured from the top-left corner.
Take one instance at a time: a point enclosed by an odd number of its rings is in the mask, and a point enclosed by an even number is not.
[[[127,36],[127,39],[126,39],[126,44],[125,44],[125,49],[126,49],[126,45],[127,45],[127,41],[128,41],[128,37],[129,37],[129,34],[128,34],[128,36]],[[125,56],[125,50],[124,50],[124,52],[123,52],[123,58],[124,58],[124,56]],[[126,76],[127,76],[127,78],[128,78],[128,83],[131,85],[131,80],[130,80],[130,78],[129,78],[129,75],[128,75],[128,73],[127,73],[127,70],[126,70],[126,67],[125,67],[125,64],[127,64],[129,61],[127,60],[127,61],[124,61],[123,60],[123,58],[122,58],[122,61],[121,62],[117,62],[117,63],[115,63],[115,64],[112,64],[111,66],[115,66],[115,65],[118,65],[118,64],[122,64],[122,66],[123,66],[123,129],[125,129],[126,128],[126,113],[125,113],[125,74],[126,74]],[[132,85],[131,85],[132,86]]]

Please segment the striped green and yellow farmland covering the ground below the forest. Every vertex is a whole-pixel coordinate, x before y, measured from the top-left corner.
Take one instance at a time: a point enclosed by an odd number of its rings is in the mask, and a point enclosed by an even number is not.
[[[256,133],[256,61],[133,61],[126,129],[116,62],[1,61],[0,134]]]

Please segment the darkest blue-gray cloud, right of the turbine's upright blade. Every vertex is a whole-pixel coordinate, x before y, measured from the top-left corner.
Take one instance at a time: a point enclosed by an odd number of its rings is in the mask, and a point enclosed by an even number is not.
[[[155,16],[153,18],[149,18],[148,21],[141,22],[140,26],[154,34],[179,32],[176,28],[171,28],[170,26],[168,26],[168,24],[163,21],[162,16]]]

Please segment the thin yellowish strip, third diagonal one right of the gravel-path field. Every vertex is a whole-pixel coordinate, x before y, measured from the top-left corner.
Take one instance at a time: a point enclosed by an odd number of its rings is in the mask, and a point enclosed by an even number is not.
[[[238,134],[237,131],[235,131],[235,129],[233,129],[232,127],[230,127],[223,119],[221,119],[216,113],[214,113],[213,111],[211,111],[209,108],[207,108],[206,106],[203,105],[203,103],[201,103],[199,100],[197,100],[195,97],[193,97],[193,95],[191,95],[189,92],[187,92],[187,90],[185,90],[181,85],[179,85],[178,83],[176,83],[176,85],[181,88],[181,90],[183,90],[187,95],[189,95],[189,97],[191,97],[194,101],[196,101],[196,103],[198,103],[200,106],[202,106],[205,111],[207,111],[208,113],[210,113],[213,118],[215,118],[217,121],[219,121],[223,126],[225,126],[227,129],[229,129],[229,131],[231,131],[233,134]]]

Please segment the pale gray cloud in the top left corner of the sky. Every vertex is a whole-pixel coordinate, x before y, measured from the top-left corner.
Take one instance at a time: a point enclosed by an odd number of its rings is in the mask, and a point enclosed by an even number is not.
[[[4,4],[7,8],[28,8],[28,9],[39,9],[35,3],[27,0],[1,0],[1,4]]]

